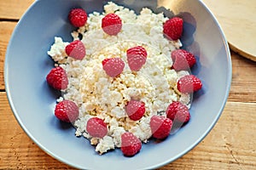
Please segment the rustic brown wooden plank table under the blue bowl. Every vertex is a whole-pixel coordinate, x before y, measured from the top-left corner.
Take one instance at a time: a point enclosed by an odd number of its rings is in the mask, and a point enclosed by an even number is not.
[[[3,82],[6,48],[33,0],[0,0],[0,169],[72,169],[39,149],[15,120]],[[164,169],[256,169],[256,63],[231,51],[230,96],[216,126],[193,150]]]

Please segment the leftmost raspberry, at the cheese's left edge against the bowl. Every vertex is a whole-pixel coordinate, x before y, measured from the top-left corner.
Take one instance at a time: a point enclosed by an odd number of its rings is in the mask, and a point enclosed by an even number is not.
[[[51,87],[57,90],[64,90],[68,85],[67,73],[62,67],[57,66],[49,71],[46,81]]]

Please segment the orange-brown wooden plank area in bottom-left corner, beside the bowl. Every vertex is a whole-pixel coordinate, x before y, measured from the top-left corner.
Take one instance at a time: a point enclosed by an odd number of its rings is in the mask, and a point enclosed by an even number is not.
[[[72,169],[41,150],[26,136],[0,92],[0,169]]]

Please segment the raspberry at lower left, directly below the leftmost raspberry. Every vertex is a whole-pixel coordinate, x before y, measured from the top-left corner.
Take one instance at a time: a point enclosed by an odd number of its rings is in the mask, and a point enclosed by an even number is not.
[[[74,122],[79,117],[79,107],[71,100],[55,105],[55,116],[63,122]]]

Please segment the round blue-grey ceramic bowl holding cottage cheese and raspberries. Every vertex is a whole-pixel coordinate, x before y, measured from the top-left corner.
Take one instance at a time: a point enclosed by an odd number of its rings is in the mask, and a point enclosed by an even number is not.
[[[113,1],[139,11],[158,5],[171,8],[183,18],[184,47],[199,64],[192,72],[203,89],[195,93],[189,123],[164,142],[143,144],[143,150],[125,157],[120,150],[99,156],[89,141],[76,138],[75,129],[53,116],[57,95],[45,82],[53,67],[47,55],[54,37],[72,41],[67,11],[82,7],[88,13],[102,12],[100,0],[38,0],[16,26],[5,59],[4,77],[9,104],[20,126],[38,146],[57,160],[81,169],[152,169],[176,160],[195,147],[210,132],[224,109],[230,91],[231,60],[224,33],[209,9],[197,0]],[[160,4],[157,4],[159,2]],[[156,11],[163,10],[158,8]]]

